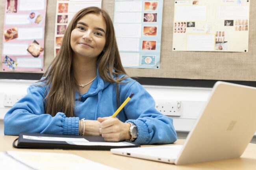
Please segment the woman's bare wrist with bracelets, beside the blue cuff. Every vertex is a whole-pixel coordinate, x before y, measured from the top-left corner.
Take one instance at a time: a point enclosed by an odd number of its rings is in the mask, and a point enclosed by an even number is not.
[[[84,135],[95,135],[95,136],[101,135],[99,121],[85,120],[84,124],[85,124]],[[79,129],[81,129],[81,126],[79,127]]]

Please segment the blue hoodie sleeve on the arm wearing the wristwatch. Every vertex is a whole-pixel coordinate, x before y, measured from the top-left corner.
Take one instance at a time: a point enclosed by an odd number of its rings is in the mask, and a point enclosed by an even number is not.
[[[121,102],[123,102],[131,93],[134,96],[124,107],[127,117],[126,122],[134,123],[138,128],[138,137],[135,143],[139,144],[166,144],[174,143],[177,140],[177,134],[174,130],[173,119],[167,117],[155,108],[154,99],[139,84],[133,84],[121,94]],[[128,83],[130,84],[130,83]]]

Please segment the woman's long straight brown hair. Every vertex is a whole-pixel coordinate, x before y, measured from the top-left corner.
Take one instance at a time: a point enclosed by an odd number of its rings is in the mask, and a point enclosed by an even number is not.
[[[121,64],[121,58],[117,48],[113,23],[108,13],[98,7],[87,7],[74,15],[67,27],[61,48],[54,58],[49,68],[43,75],[48,91],[45,97],[45,113],[55,116],[58,112],[63,112],[67,117],[74,117],[75,93],[78,90],[76,79],[72,73],[72,48],[70,46],[70,35],[80,18],[88,13],[102,15],[106,22],[106,44],[104,51],[98,56],[98,71],[100,77],[108,82],[117,83],[126,77],[118,79],[118,75],[125,74]],[[114,70],[114,71],[113,71]]]

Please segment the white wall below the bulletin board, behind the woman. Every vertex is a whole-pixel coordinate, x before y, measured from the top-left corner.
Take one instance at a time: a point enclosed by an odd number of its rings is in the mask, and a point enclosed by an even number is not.
[[[4,115],[10,109],[10,107],[4,106],[5,95],[25,95],[27,87],[33,82],[35,80],[0,79],[0,135],[4,134]],[[188,132],[195,124],[198,114],[211,92],[211,88],[143,86],[156,102],[181,101],[180,116],[171,116],[179,139],[186,139]],[[254,136],[252,142],[256,143],[256,136]]]

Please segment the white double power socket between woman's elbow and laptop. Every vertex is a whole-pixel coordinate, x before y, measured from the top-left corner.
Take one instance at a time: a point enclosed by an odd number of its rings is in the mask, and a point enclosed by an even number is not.
[[[156,101],[156,110],[167,116],[180,116],[181,101]]]

